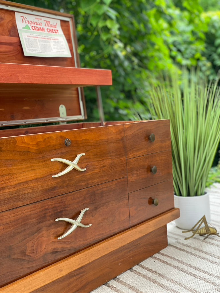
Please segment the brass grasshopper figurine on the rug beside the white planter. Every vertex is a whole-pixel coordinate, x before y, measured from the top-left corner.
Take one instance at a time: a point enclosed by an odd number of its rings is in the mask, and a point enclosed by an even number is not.
[[[204,223],[205,226],[200,228],[202,223]],[[199,226],[196,228],[196,230],[194,230],[194,228],[197,225],[199,225]],[[216,236],[220,237],[220,235],[218,235],[219,233],[217,233],[217,230],[214,227],[209,227],[208,226],[205,215],[192,227],[192,229],[187,230],[187,231],[182,231],[182,233],[187,233],[187,232],[190,232],[190,231],[192,231],[192,236],[186,237],[185,240],[187,240],[189,238],[192,238],[195,234],[199,234],[199,236],[207,235],[204,238],[204,240],[207,239],[210,235],[216,235]]]

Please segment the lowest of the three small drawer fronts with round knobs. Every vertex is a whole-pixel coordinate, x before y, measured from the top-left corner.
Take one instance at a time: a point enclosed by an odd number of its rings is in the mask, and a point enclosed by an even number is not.
[[[157,206],[152,203],[155,198],[159,202]],[[135,226],[172,208],[174,208],[172,179],[129,193],[131,226]]]

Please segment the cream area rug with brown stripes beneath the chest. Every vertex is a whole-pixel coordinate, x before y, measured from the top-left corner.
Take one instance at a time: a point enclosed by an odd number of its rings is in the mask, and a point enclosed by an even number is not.
[[[220,184],[210,193],[211,225],[220,232]],[[187,234],[167,224],[168,247],[100,286],[92,293],[220,292],[220,237]]]

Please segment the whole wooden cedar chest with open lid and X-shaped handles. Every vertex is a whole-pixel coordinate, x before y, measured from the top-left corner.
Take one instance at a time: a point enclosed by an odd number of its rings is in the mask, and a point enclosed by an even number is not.
[[[24,56],[15,11],[59,19],[72,57]],[[71,15],[2,0],[0,70],[2,127],[85,119],[82,87],[112,82],[79,68]],[[0,292],[89,292],[167,246],[169,121],[101,125],[0,130]]]

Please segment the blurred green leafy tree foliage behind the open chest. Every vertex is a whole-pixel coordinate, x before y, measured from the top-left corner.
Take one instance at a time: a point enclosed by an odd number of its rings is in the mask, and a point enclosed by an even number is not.
[[[149,80],[176,65],[210,74],[207,23],[199,0],[15,0],[75,17],[81,66],[111,69],[113,86],[101,88],[106,120],[149,117]],[[201,1],[201,0],[200,0]],[[84,88],[89,120],[97,120],[96,93]]]

